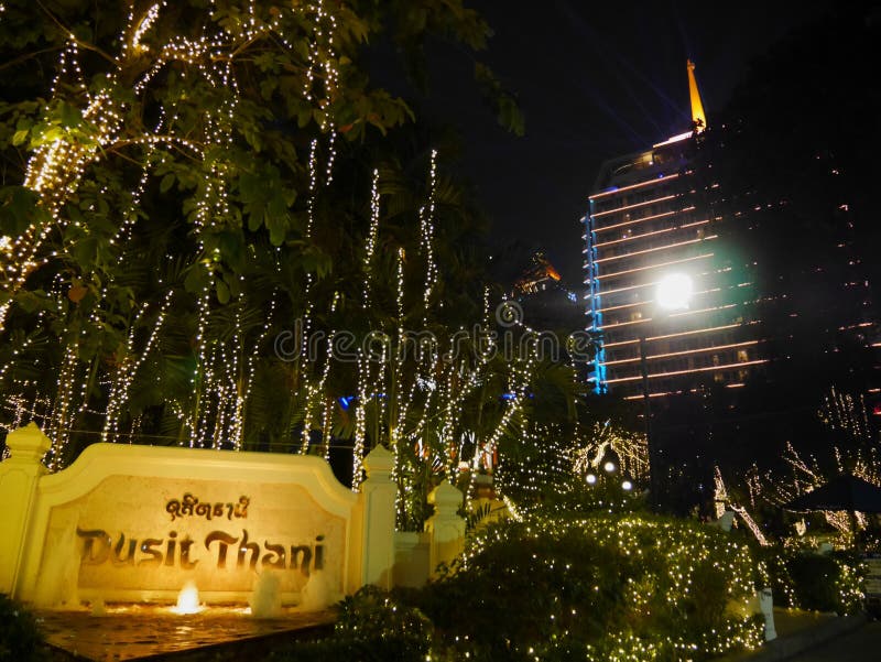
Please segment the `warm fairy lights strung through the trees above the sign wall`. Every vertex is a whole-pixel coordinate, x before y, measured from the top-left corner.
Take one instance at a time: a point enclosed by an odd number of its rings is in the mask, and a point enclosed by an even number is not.
[[[79,119],[58,137],[43,140],[32,135],[32,150],[28,160],[23,184],[39,195],[44,216],[35,217],[17,237],[0,238],[0,289],[7,303],[0,306],[0,334],[7,328],[8,316],[12,311],[14,295],[25,287],[29,279],[51,260],[58,258],[53,241],[68,225],[79,226],[80,221],[70,218],[66,206],[84,186],[91,167],[105,163],[116,154],[124,152],[127,163],[133,164],[131,186],[124,204],[115,213],[117,224],[109,237],[116,251],[113,257],[123,260],[134,241],[135,228],[143,216],[141,208],[145,192],[159,175],[168,175],[168,167],[175,159],[183,158],[199,166],[200,182],[192,194],[193,237],[199,251],[197,268],[204,278],[196,290],[196,322],[192,338],[195,363],[187,368],[186,378],[192,387],[192,402],[170,401],[166,409],[181,424],[177,443],[202,448],[242,447],[246,435],[249,398],[251,397],[259,357],[279,323],[278,292],[269,297],[269,305],[261,312],[258,322],[248,318],[244,302],[233,301],[228,317],[220,315],[217,305],[218,283],[228,282],[231,276],[222,271],[219,249],[207,238],[221,229],[221,219],[233,215],[230,198],[233,189],[233,171],[222,158],[214,154],[229,150],[240,135],[236,132],[237,118],[243,112],[242,91],[237,74],[237,62],[248,56],[248,48],[265,40],[274,45],[281,44],[290,52],[296,51],[295,41],[305,39],[308,45],[305,67],[302,75],[302,96],[313,108],[318,124],[318,138],[308,143],[308,191],[306,197],[305,239],[314,237],[319,223],[318,205],[320,196],[333,183],[334,166],[337,159],[337,120],[334,108],[339,95],[341,58],[339,57],[339,25],[333,3],[324,0],[295,3],[286,8],[275,8],[265,17],[258,15],[255,3],[248,3],[246,14],[236,21],[216,21],[216,7],[210,3],[209,20],[206,20],[192,34],[198,36],[167,35],[168,31],[159,29],[170,11],[165,0],[154,2],[143,11],[131,11],[119,33],[118,52],[108,61],[104,76],[86,76],[83,70],[84,44],[74,34],[67,35],[58,54],[55,77],[50,87],[48,101],[42,112],[44,123],[51,123],[59,105],[74,107]],[[308,34],[304,37],[304,25]],[[134,66],[133,63],[139,64]],[[145,127],[133,127],[127,122],[132,110],[132,99],[142,100],[161,84],[171,68],[183,82],[181,90],[157,96],[156,116]],[[132,72],[138,72],[132,76]],[[242,83],[242,86],[244,83]],[[191,108],[185,98],[187,89],[208,89],[216,96],[216,104],[206,108],[197,129],[187,126],[185,118]],[[151,97],[152,98],[152,97]],[[438,215],[438,153],[432,150],[426,173],[426,194],[418,208],[418,245],[409,254],[404,247],[396,247],[394,256],[394,319],[389,328],[393,338],[390,346],[383,346],[379,361],[360,352],[357,362],[357,384],[351,400],[354,417],[354,489],[362,480],[363,456],[377,444],[388,445],[396,455],[395,478],[403,482],[405,473],[413,471],[413,463],[423,463],[434,471],[445,471],[453,480],[461,471],[469,470],[471,486],[477,474],[476,463],[491,464],[499,444],[510,431],[512,423],[524,415],[524,403],[529,384],[537,366],[536,354],[516,358],[508,369],[505,391],[510,400],[499,408],[500,413],[478,432],[469,428],[466,409],[469,400],[477,398],[478,391],[490,379],[494,369],[487,357],[493,354],[493,345],[483,348],[475,358],[463,352],[454,343],[445,338],[447,345],[418,348],[417,356],[406,365],[403,349],[410,338],[405,333],[405,321],[423,321],[423,328],[435,322],[437,308],[443,305],[438,297],[440,270],[437,262],[436,224]],[[172,177],[173,178],[173,177]],[[370,218],[363,251],[363,292],[361,307],[372,311],[376,293],[380,287],[378,246],[383,245],[387,228],[382,224],[382,196],[380,194],[380,173],[372,173],[369,200]],[[164,191],[165,182],[162,187]],[[101,195],[106,188],[99,189]],[[83,224],[83,232],[90,231]],[[380,238],[383,242],[380,243]],[[388,241],[394,243],[394,235],[389,231]],[[281,250],[276,252],[279,262]],[[172,257],[166,256],[171,261]],[[411,268],[420,264],[420,269]],[[25,398],[32,388],[29,379],[13,379],[15,368],[30,356],[37,335],[15,340],[11,358],[0,365],[0,379],[3,380],[7,409],[15,412],[15,423],[26,419],[42,421],[44,432],[52,439],[47,456],[50,469],[57,470],[69,462],[67,445],[72,433],[80,433],[76,427],[77,415],[84,412],[102,416],[97,431],[91,431],[100,441],[130,443],[138,439],[140,416],[130,413],[132,391],[151,361],[159,360],[165,350],[166,335],[171,333],[170,323],[174,307],[183,305],[180,289],[175,283],[163,281],[164,290],[152,301],[141,301],[134,306],[132,318],[128,321],[124,347],[113,355],[107,365],[100,359],[91,363],[80,357],[83,343],[90,330],[109,324],[107,311],[111,307],[106,299],[113,283],[100,281],[91,273],[83,273],[81,283],[72,285],[69,280],[57,276],[53,280],[48,295],[56,302],[74,301],[74,287],[89,290],[99,299],[98,305],[87,319],[70,322],[59,336],[65,346],[57,375],[54,393],[40,393]],[[225,285],[227,286],[227,285]],[[302,402],[298,451],[309,453],[311,437],[317,430],[323,438],[323,452],[329,453],[330,438],[340,422],[340,404],[328,393],[328,384],[334,378],[335,363],[331,347],[336,330],[330,329],[326,352],[313,357],[305,345],[309,332],[317,325],[320,306],[328,304],[330,311],[339,305],[339,293],[333,301],[319,301],[316,294],[315,276],[304,275],[302,283],[305,307],[301,311],[303,322],[302,340],[304,345],[294,369],[298,376],[298,402]],[[77,294],[78,296],[79,294]],[[483,328],[490,328],[491,300],[489,290],[485,291]],[[407,302],[414,304],[416,313],[409,314]],[[107,305],[105,305],[107,304]],[[418,306],[421,305],[421,311]],[[44,324],[42,316],[36,317]],[[229,333],[219,339],[211,328],[228,319]],[[47,324],[47,322],[45,322]],[[412,366],[412,369],[411,369]],[[93,375],[106,395],[102,411],[94,400]],[[336,395],[336,394],[334,394]],[[496,408],[493,408],[496,409]],[[487,414],[489,416],[489,414]],[[466,457],[466,448],[474,447],[472,455]],[[411,457],[411,466],[405,466],[404,457]],[[414,459],[415,458],[415,459]],[[488,467],[491,468],[491,467]],[[404,486],[404,497],[412,486]]]

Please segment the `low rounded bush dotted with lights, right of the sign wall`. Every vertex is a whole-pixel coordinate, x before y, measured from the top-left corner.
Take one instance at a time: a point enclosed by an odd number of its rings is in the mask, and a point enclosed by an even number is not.
[[[704,660],[761,643],[762,620],[744,609],[757,579],[747,545],[696,523],[531,517],[483,529],[425,588],[360,592],[342,604],[333,639],[287,654]]]

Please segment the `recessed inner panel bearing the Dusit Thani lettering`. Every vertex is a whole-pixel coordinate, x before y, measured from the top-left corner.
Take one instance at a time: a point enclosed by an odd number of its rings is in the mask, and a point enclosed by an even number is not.
[[[74,551],[84,599],[176,595],[187,580],[230,599],[265,572],[285,603],[309,580],[345,595],[347,518],[298,485],[110,476],[53,507],[46,534],[41,566],[61,567],[53,557]]]

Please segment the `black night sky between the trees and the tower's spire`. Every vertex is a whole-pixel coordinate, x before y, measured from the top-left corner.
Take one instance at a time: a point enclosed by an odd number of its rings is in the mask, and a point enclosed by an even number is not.
[[[465,137],[460,167],[493,245],[542,247],[580,283],[581,228],[599,165],[688,129],[686,59],[708,123],[749,62],[828,2],[474,0],[494,31],[480,55],[515,91],[526,135],[502,130],[469,89],[471,63],[435,63],[436,107]],[[469,94],[471,93],[471,94]],[[445,117],[446,116],[446,117]]]

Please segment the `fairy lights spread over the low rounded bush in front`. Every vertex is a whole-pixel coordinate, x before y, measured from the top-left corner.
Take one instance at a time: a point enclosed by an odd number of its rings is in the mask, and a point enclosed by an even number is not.
[[[766,568],[755,563],[749,545],[730,535],[692,522],[638,514],[597,513],[569,520],[534,513],[521,516],[518,521],[513,530],[494,527],[475,532],[460,562],[463,571],[480,564],[481,556],[496,544],[530,544],[530,541],[546,544],[548,540],[570,540],[576,534],[589,540],[592,547],[619,557],[619,572],[630,575],[624,584],[624,604],[619,606],[628,614],[626,627],[603,632],[602,644],[588,645],[585,659],[614,662],[703,659],[761,645],[763,626],[747,609],[727,609],[713,627],[688,628],[690,618],[700,612],[689,607],[699,599],[697,577],[709,573],[719,577],[729,603],[744,606],[755,594],[755,586],[768,579]],[[543,566],[552,569],[555,566],[569,569],[567,561],[570,563],[568,558],[541,558]],[[600,586],[594,589],[599,592]],[[503,590],[504,587],[499,586],[499,592]],[[553,650],[556,640],[567,641],[578,632],[581,617],[573,599],[566,596],[547,601],[547,651],[531,649],[518,653],[529,653],[535,660],[545,659],[544,654]],[[657,628],[653,620],[663,618],[666,610],[676,614],[676,632]],[[550,658],[555,659],[554,655]]]

